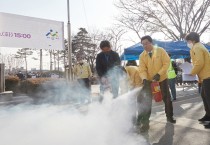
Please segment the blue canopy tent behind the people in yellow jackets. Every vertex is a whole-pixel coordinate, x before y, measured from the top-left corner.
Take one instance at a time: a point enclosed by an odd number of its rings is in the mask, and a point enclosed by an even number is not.
[[[173,59],[186,58],[190,56],[190,48],[187,47],[187,43],[184,41],[157,41],[154,40],[154,45],[163,47],[168,53],[171,54]],[[210,46],[205,45],[205,47],[210,51]],[[121,55],[121,60],[138,60],[139,55],[144,51],[143,46],[137,43],[131,47],[124,50]]]

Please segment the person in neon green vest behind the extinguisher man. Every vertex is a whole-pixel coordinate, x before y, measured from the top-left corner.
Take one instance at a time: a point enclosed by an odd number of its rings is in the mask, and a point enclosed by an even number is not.
[[[171,57],[171,54],[168,54],[169,57]],[[176,100],[176,72],[175,72],[175,67],[176,65],[175,62],[170,60],[170,65],[168,68],[168,82],[169,82],[169,88],[171,90],[171,99]]]

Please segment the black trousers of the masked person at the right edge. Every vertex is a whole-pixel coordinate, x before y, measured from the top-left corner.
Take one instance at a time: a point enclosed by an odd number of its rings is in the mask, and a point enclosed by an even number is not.
[[[201,87],[201,97],[203,99],[206,115],[210,117],[210,78],[203,80]]]

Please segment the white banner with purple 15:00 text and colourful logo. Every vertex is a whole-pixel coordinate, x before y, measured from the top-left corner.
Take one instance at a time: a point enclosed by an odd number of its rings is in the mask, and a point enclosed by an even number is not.
[[[0,12],[0,47],[64,49],[63,22]]]

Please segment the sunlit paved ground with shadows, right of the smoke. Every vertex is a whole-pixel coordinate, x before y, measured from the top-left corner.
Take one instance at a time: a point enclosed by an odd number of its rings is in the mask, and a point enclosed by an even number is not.
[[[177,89],[173,102],[176,124],[166,122],[162,103],[153,104],[150,130],[145,137],[151,145],[210,145],[210,129],[197,120],[204,115],[203,103],[197,89]]]

